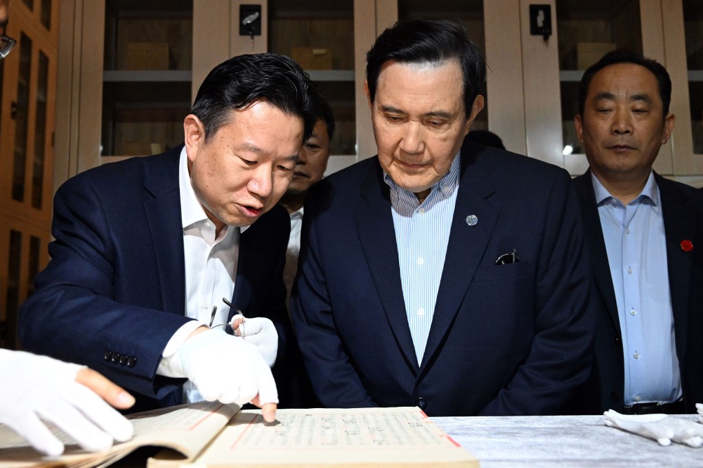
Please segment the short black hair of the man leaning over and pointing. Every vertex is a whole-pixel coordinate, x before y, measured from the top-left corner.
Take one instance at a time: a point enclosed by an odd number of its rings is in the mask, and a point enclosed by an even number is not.
[[[309,76],[291,58],[275,53],[237,55],[207,74],[191,114],[202,121],[207,140],[229,121],[233,110],[263,100],[285,114],[302,117],[305,141],[315,125],[314,94]]]

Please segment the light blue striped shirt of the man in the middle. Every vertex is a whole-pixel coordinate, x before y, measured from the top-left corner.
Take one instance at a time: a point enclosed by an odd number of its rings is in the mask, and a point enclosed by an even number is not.
[[[413,192],[396,185],[387,173],[383,175],[391,192],[403,298],[418,364],[425,354],[444,269],[459,188],[460,162],[457,155],[449,173],[432,187],[422,204]]]

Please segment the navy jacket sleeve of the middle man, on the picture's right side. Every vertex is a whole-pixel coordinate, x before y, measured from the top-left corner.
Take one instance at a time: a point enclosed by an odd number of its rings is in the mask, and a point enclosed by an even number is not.
[[[561,413],[591,371],[595,314],[591,269],[576,193],[568,175],[554,180],[536,266],[534,337],[527,359],[481,415]],[[525,312],[530,308],[525,305]]]

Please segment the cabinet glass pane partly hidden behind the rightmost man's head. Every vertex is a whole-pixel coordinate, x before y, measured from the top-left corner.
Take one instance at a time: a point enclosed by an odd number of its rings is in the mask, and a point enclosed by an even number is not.
[[[583,152],[574,129],[583,71],[616,48],[643,53],[642,27],[638,0],[559,0],[556,6],[566,156]]]

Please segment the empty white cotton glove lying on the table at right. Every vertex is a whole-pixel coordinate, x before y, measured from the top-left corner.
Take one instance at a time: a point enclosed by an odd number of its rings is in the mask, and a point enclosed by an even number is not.
[[[621,415],[614,410],[607,410],[603,415],[606,425],[654,439],[661,446],[671,445],[671,441],[691,447],[703,446],[703,427],[690,420],[663,414]]]

